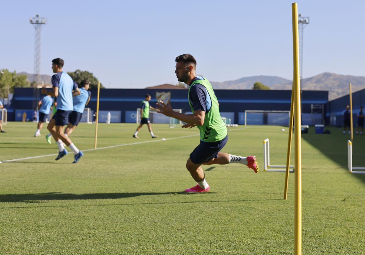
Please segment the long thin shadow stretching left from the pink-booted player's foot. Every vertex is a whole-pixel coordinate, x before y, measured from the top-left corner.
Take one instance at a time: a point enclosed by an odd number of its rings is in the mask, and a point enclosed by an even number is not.
[[[215,194],[216,192],[204,192],[200,194]],[[150,195],[193,195],[197,193],[187,192],[136,192],[136,193],[91,193],[91,194],[70,194],[61,192],[35,193],[35,194],[3,194],[0,195],[0,202],[26,202],[39,203],[48,200],[88,200],[88,199],[120,199],[137,196]],[[39,202],[37,202],[39,201]]]

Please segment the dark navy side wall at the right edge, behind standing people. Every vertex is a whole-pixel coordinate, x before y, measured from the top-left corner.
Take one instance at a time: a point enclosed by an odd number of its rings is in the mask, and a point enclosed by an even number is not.
[[[326,117],[330,119],[330,125],[343,126],[343,113],[346,110],[346,105],[350,105],[349,94],[334,99],[327,104]],[[352,113],[353,126],[357,126],[357,114],[360,111],[360,106],[365,107],[365,89],[352,93]]]

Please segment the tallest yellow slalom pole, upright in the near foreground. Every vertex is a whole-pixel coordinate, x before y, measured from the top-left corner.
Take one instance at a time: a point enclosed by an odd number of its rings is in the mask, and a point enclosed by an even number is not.
[[[292,3],[293,64],[294,64],[294,145],[295,145],[295,200],[294,200],[294,255],[301,254],[301,109],[299,75],[298,5]]]

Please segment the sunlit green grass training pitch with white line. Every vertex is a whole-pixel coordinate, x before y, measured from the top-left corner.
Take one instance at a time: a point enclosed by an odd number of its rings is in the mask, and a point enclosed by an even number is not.
[[[262,170],[265,138],[270,163],[285,164],[283,127],[228,127],[222,151],[256,155],[260,172],[203,166],[211,190],[193,194],[183,192],[195,185],[185,162],[198,130],[153,124],[154,140],[146,126],[132,138],[136,127],[100,123],[98,148],[125,145],[86,151],[77,164],[70,150],[59,161],[0,164],[0,254],[293,254],[294,174],[285,201],[285,173]],[[41,137],[33,137],[35,123],[4,129],[0,161],[57,153],[45,127]],[[365,175],[347,172],[349,135],[330,130],[315,134],[310,127],[302,136],[302,251],[364,254]],[[94,134],[95,125],[81,123],[71,138],[87,150]],[[354,137],[354,166],[365,166],[364,144],[365,136]]]

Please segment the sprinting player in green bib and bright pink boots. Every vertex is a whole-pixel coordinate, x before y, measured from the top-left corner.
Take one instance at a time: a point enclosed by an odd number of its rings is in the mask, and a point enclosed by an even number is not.
[[[235,156],[220,152],[226,145],[228,136],[227,128],[219,113],[219,104],[210,82],[196,75],[196,60],[190,54],[183,54],[175,59],[176,77],[179,82],[189,85],[188,102],[193,114],[182,114],[173,111],[170,102],[166,105],[160,101],[156,104],[157,112],[168,117],[186,122],[182,127],[195,127],[200,130],[200,144],[193,150],[186,163],[197,185],[185,189],[185,192],[209,191],[210,187],[205,180],[201,165],[241,163],[258,172],[255,156]]]

